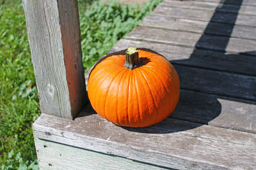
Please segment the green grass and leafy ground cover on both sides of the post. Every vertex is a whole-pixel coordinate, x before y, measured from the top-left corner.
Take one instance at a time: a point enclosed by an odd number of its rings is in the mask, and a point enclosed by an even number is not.
[[[85,71],[160,1],[150,1],[141,9],[138,4],[79,1]],[[0,0],[1,169],[38,169],[31,124],[39,115],[22,3]]]

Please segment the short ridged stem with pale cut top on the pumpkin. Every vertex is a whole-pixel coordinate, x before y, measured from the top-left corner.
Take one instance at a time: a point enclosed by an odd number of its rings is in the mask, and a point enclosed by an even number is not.
[[[141,66],[138,50],[136,50],[134,47],[128,47],[127,51],[125,52],[125,58],[125,67],[134,69]]]

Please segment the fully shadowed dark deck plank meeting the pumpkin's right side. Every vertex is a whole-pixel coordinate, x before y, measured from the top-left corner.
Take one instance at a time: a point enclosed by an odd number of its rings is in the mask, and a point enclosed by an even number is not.
[[[182,89],[256,101],[256,77],[175,66]]]

